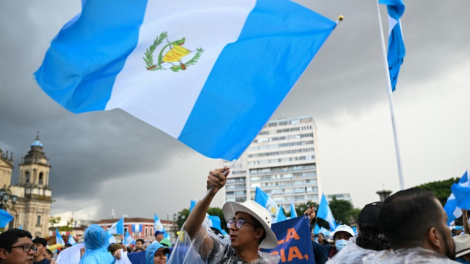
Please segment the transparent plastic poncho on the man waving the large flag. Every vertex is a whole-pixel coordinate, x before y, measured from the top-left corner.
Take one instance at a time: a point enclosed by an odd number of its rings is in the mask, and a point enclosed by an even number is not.
[[[191,241],[184,225],[181,228],[180,235],[173,248],[170,259],[167,264],[244,264],[235,254],[235,250],[230,246],[230,239],[219,238],[210,227],[207,221],[201,225],[201,230],[205,231],[205,236],[201,235],[204,232],[198,232],[194,239]],[[204,238],[209,237],[214,241],[214,248],[206,259],[203,259],[198,252],[203,247]],[[258,251],[258,260],[251,262],[251,264],[277,264],[281,260],[278,255],[271,255],[269,253]]]

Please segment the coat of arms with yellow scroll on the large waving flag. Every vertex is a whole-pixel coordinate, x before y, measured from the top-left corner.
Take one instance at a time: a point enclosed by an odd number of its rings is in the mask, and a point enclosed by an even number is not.
[[[160,53],[158,53],[157,63],[155,64],[153,62],[153,52],[164,40],[166,40],[167,44],[163,46]],[[143,60],[145,61],[146,69],[149,71],[172,70],[173,72],[179,72],[180,70],[186,70],[189,65],[194,65],[201,57],[204,50],[197,48],[194,56],[186,62],[183,62],[183,57],[194,52],[183,47],[185,41],[186,38],[182,38],[170,42],[168,40],[168,32],[162,32],[157,36],[153,44],[145,50]]]

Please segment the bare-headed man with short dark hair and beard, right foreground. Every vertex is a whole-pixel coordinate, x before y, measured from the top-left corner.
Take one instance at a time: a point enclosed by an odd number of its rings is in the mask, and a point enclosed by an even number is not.
[[[449,260],[455,258],[455,246],[447,214],[433,193],[407,189],[391,195],[380,209],[379,221],[393,249],[390,262],[455,263]]]

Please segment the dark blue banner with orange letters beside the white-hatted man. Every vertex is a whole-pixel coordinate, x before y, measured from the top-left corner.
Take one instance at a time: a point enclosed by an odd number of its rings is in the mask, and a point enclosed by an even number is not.
[[[261,251],[279,255],[281,257],[280,263],[315,263],[308,217],[302,215],[275,223],[271,229],[276,234],[278,246],[269,250],[261,249]]]

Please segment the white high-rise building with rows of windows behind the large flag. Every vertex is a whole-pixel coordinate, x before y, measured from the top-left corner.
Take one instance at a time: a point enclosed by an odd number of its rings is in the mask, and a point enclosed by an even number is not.
[[[316,142],[312,117],[269,121],[231,169],[225,201],[254,200],[259,187],[284,211],[291,201],[319,203]]]

